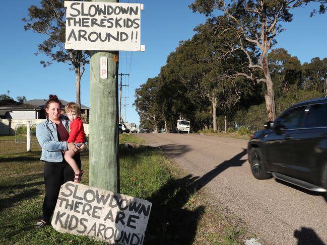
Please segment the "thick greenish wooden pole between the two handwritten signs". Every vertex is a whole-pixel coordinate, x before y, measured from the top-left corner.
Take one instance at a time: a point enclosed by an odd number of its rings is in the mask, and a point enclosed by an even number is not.
[[[118,3],[118,0],[92,0]],[[90,186],[119,193],[118,51],[90,51]],[[100,57],[107,78],[100,76]]]

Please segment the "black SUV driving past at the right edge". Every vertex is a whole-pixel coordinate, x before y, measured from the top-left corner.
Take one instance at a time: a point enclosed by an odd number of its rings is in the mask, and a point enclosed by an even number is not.
[[[326,193],[327,98],[298,103],[267,122],[251,135],[248,159],[256,179],[274,176]]]

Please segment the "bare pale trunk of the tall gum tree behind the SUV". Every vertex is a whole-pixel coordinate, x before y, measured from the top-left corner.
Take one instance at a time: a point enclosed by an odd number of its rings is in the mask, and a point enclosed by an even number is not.
[[[268,49],[268,48],[267,48]],[[270,76],[270,71],[268,67],[268,50],[263,51],[263,69],[266,78],[266,85],[267,85],[267,92],[265,94],[266,99],[266,108],[268,112],[268,119],[269,121],[274,121],[276,118],[276,111],[275,111],[275,98],[274,98],[274,86],[273,80]]]

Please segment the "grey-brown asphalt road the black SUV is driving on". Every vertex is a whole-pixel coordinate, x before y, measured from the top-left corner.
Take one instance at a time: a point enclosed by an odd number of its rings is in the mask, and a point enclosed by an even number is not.
[[[213,202],[236,215],[261,244],[327,244],[327,202],[322,194],[277,181],[256,180],[247,140],[197,134],[142,133],[187,173],[199,177]]]

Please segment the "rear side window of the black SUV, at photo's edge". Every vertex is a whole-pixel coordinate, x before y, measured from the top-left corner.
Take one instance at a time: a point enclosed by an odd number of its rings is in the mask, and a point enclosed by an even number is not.
[[[311,105],[303,127],[327,127],[327,104]]]

